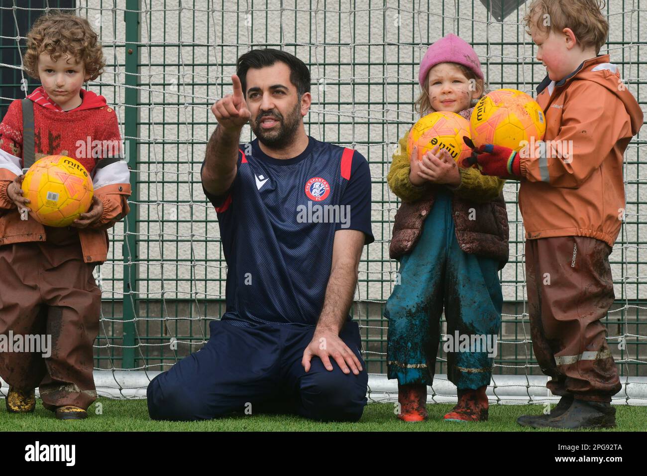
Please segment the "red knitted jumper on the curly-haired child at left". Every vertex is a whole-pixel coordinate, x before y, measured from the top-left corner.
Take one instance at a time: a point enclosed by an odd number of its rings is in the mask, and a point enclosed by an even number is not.
[[[91,173],[98,159],[105,155],[118,155],[121,138],[115,111],[107,106],[104,96],[84,89],[80,94],[82,104],[67,112],[47,108],[41,106],[40,101],[34,101],[36,160],[47,155],[67,155],[78,160]],[[16,157],[23,157],[23,111],[20,100],[9,105],[0,123],[0,148]],[[113,152],[105,154],[106,151]]]

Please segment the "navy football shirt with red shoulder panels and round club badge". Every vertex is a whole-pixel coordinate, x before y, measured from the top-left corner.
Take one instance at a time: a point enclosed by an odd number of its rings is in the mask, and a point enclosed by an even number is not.
[[[366,244],[374,241],[366,159],[312,137],[292,159],[266,155],[258,139],[240,144],[228,192],[204,194],[217,212],[228,267],[225,318],[316,324],[335,231],[359,230]]]

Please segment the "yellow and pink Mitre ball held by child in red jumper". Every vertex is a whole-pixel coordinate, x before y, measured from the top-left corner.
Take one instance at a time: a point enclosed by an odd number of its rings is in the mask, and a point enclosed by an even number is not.
[[[93,203],[87,170],[65,155],[49,155],[34,163],[22,183],[30,216],[50,227],[67,227]]]

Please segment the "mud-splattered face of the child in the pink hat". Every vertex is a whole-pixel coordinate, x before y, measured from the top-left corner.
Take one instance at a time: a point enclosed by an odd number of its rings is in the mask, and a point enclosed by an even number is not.
[[[459,113],[470,107],[472,98],[479,96],[476,83],[450,63],[435,65],[429,70],[427,79],[427,93],[434,111]]]

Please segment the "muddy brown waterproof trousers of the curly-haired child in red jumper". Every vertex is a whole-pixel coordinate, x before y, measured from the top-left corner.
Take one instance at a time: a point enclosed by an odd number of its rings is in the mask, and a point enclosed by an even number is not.
[[[101,291],[92,275],[96,264],[83,262],[78,238],[67,243],[0,247],[0,335],[51,339],[48,357],[24,348],[0,352],[0,376],[23,391],[39,387],[43,406],[50,410],[63,405],[87,409],[96,400],[93,341]]]

